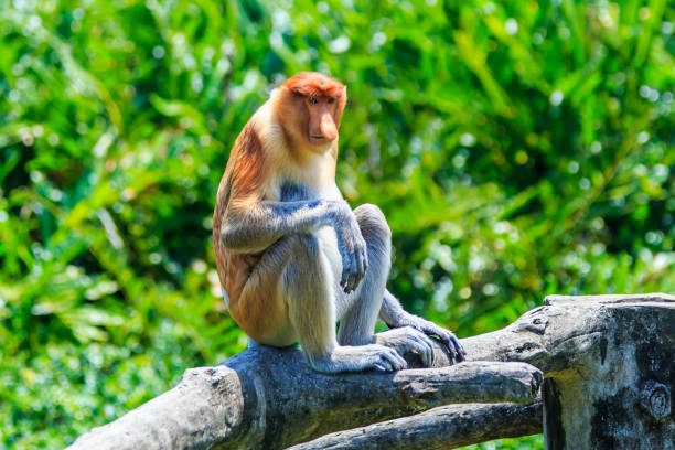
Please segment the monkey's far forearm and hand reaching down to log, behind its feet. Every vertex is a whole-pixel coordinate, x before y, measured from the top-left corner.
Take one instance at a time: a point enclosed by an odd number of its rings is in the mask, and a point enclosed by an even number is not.
[[[410,314],[403,309],[400,302],[388,290],[385,290],[382,308],[379,310],[379,319],[392,329],[410,326],[425,334],[437,335],[448,347],[456,361],[464,361],[467,352],[454,333],[418,315]]]

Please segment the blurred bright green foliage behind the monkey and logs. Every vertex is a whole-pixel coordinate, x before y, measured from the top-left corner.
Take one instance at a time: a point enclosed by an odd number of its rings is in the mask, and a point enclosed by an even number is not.
[[[349,85],[338,183],[461,336],[675,291],[675,4],[0,0],[0,447],[56,448],[239,352],[210,242],[271,86]],[[484,448],[542,448],[542,439]]]

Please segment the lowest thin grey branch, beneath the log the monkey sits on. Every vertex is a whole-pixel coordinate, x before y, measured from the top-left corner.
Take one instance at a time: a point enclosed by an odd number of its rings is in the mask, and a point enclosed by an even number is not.
[[[446,450],[542,432],[542,401],[449,405],[367,427],[338,431],[289,450]]]

